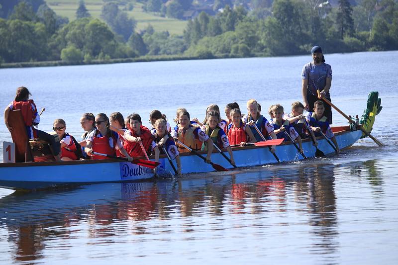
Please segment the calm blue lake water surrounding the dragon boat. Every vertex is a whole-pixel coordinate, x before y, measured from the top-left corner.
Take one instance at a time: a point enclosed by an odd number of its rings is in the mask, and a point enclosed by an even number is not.
[[[371,139],[338,156],[177,180],[87,185],[10,194],[0,189],[0,264],[397,264],[398,52],[326,54],[332,100],[361,115],[368,92],[383,110]],[[275,57],[0,69],[0,105],[26,86],[39,128],[63,118],[79,137],[84,112],[153,109],[171,124],[178,107],[256,98],[267,109],[301,100],[311,57]],[[221,113],[223,114],[223,113]],[[223,115],[222,115],[223,116]],[[335,125],[346,120],[333,112]],[[0,123],[0,141],[10,135]],[[0,147],[2,160],[2,146]]]

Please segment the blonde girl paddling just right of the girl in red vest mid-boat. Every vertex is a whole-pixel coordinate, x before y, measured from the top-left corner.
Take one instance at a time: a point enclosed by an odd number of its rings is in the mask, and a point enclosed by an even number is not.
[[[253,132],[254,137],[256,137],[257,142],[263,141],[263,138],[258,134],[254,124],[263,134],[266,140],[277,139],[277,136],[274,133],[274,127],[270,124],[270,122],[260,114],[259,104],[255,99],[250,99],[247,101],[247,110],[249,113],[245,115],[242,120],[244,123],[250,125],[250,129]],[[271,150],[275,150],[275,146],[271,147]]]

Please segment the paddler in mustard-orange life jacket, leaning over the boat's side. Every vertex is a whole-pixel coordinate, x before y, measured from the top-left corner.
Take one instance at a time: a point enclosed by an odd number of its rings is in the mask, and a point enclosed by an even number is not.
[[[210,163],[210,156],[213,152],[213,140],[211,140],[211,138],[208,137],[198,126],[190,124],[190,113],[188,113],[188,111],[180,112],[179,122],[178,141],[182,142],[193,150],[200,150],[203,142],[207,142],[208,151],[206,162]],[[185,149],[182,146],[179,146],[178,151],[180,153],[190,152],[188,149]]]

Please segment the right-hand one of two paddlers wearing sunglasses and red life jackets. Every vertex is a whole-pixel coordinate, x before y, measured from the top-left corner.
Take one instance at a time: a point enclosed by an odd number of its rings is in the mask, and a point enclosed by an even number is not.
[[[119,135],[109,129],[109,119],[104,113],[96,116],[96,129],[89,134],[85,151],[92,159],[106,159],[104,156],[94,155],[98,152],[106,155],[116,156],[116,150],[119,150],[126,158],[131,159],[124,150],[119,140]]]

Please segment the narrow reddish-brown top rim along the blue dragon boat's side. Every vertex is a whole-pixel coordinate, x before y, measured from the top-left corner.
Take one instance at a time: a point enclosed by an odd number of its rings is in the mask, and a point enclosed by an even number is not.
[[[332,127],[333,128],[333,127]],[[349,126],[337,126],[335,128],[341,128],[344,130],[340,130],[338,132],[334,132],[334,135],[341,135],[344,133],[350,132],[350,127]],[[322,136],[316,137],[317,140],[323,139]],[[302,142],[308,142],[311,141],[310,138],[305,138],[302,139]],[[282,142],[280,145],[291,145],[292,143],[290,142]],[[255,145],[250,145],[250,146],[235,146],[232,147],[233,151],[238,151],[238,150],[249,150],[249,149],[258,149],[258,148],[264,148],[263,146],[255,146]],[[221,149],[223,151],[226,151],[226,149]],[[207,154],[206,150],[203,151],[197,151],[199,154]],[[213,150],[212,153],[218,153],[217,150]],[[180,156],[193,156],[194,154],[192,153],[180,153]],[[150,159],[154,159],[154,156],[150,156]],[[164,159],[166,158],[166,155],[160,155],[159,159]],[[144,157],[135,157],[134,159],[145,159]],[[123,162],[122,160],[119,159],[100,159],[100,160],[75,160],[75,161],[63,161],[63,162],[55,162],[55,161],[47,161],[47,162],[21,162],[21,163],[0,163],[0,168],[10,168],[10,167],[40,167],[40,166],[62,166],[62,165],[86,165],[86,164],[103,164],[103,163],[119,163]]]

